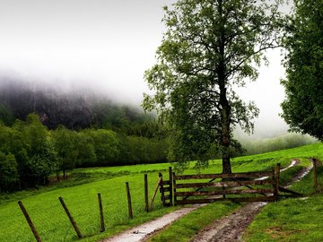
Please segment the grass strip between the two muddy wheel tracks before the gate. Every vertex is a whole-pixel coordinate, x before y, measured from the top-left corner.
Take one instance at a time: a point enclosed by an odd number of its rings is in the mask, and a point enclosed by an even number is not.
[[[169,228],[162,230],[156,236],[149,238],[150,242],[186,242],[196,235],[197,231],[205,228],[214,220],[237,210],[240,204],[223,202],[211,203],[194,212],[188,213],[183,218],[173,222]]]

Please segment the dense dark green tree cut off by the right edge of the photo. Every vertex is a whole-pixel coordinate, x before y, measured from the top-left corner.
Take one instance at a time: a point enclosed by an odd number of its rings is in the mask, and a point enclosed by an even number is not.
[[[292,131],[323,140],[323,1],[294,0],[284,46],[286,99],[282,117]]]

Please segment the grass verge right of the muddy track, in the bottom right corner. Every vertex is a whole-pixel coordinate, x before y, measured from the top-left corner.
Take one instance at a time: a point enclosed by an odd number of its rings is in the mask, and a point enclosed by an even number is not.
[[[323,186],[323,166],[318,167]],[[313,172],[290,189],[305,197],[270,203],[245,231],[243,241],[323,241],[323,194],[315,194]]]

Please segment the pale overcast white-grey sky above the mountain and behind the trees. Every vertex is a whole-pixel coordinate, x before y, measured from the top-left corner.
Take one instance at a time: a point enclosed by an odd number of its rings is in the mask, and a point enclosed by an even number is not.
[[[162,6],[172,2],[0,0],[0,76],[91,86],[139,104],[147,91],[144,70],[154,64],[162,39]],[[260,108],[258,134],[287,129],[278,117],[284,99],[279,50],[268,56],[271,64],[260,69],[258,82],[240,92]]]

